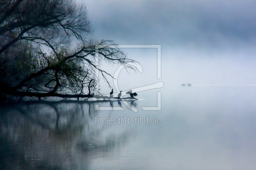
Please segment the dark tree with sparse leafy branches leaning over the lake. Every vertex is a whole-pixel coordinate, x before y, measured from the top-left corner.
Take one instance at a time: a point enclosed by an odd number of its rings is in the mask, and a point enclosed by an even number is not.
[[[2,98],[91,97],[97,83],[93,70],[107,82],[111,76],[95,63],[96,55],[110,63],[135,62],[113,41],[87,41],[84,5],[71,0],[2,0],[0,5]]]

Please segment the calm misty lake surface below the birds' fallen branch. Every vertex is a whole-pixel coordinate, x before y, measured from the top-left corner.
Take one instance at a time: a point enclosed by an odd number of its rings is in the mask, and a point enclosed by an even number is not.
[[[170,88],[161,111],[141,108],[157,106],[154,94],[133,101],[137,113],[118,101],[1,106],[1,169],[255,169],[255,95],[253,86]],[[161,124],[99,124],[96,116]]]

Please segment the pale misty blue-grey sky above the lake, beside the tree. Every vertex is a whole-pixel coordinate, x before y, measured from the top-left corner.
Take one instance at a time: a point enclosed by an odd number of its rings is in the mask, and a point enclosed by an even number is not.
[[[161,44],[165,86],[256,84],[256,1],[82,2],[94,30],[92,38]],[[143,79],[146,83],[159,81],[156,49],[124,51],[144,69],[137,75],[122,72],[132,77],[127,81],[141,80],[143,74],[152,77]]]

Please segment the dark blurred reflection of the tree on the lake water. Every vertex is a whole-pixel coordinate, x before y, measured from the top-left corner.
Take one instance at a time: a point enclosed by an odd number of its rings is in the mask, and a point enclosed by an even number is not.
[[[1,169],[88,169],[93,158],[120,150],[129,137],[127,131],[106,133],[95,114],[90,102],[1,107]]]

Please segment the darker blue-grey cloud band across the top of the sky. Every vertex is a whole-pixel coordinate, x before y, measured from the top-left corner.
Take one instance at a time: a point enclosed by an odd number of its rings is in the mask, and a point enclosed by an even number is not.
[[[85,1],[94,36],[166,46],[255,44],[256,1]]]

